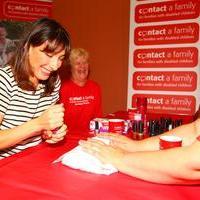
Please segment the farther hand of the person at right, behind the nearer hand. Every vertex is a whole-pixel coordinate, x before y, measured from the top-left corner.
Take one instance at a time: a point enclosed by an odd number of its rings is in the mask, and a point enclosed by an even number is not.
[[[134,152],[136,142],[129,139],[128,137],[116,133],[105,133],[99,134],[98,137],[106,138],[110,140],[110,145],[112,147],[120,148],[124,151]]]

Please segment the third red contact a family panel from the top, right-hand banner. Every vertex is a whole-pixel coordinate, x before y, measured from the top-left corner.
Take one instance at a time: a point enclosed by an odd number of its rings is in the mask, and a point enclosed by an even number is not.
[[[198,49],[195,47],[137,49],[133,54],[137,68],[196,67]]]

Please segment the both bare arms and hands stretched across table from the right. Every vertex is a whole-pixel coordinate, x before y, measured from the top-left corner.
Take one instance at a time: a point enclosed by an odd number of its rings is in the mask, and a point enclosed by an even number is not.
[[[83,149],[103,163],[111,163],[120,172],[156,183],[200,184],[200,119],[163,135],[174,134],[183,146],[159,150],[159,137],[134,141],[126,136],[105,134],[106,145],[89,139],[80,141]]]

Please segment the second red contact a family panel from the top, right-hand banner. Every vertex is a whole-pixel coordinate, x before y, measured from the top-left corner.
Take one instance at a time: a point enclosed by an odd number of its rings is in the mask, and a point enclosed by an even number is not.
[[[137,27],[134,32],[136,45],[194,43],[199,39],[199,24],[170,24]]]

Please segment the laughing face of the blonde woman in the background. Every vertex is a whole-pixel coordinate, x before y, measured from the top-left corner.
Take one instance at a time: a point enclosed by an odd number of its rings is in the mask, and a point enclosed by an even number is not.
[[[85,84],[89,73],[88,59],[84,56],[76,58],[71,66],[71,73],[77,84]]]

